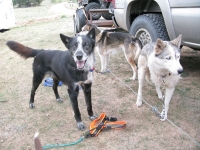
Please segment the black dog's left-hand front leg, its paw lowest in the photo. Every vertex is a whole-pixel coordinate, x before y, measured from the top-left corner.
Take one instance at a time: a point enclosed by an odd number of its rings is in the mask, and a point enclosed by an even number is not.
[[[78,101],[77,101],[78,94],[79,94],[79,87],[76,86],[75,89],[73,87],[71,87],[71,88],[69,87],[68,93],[69,93],[69,97],[70,97],[70,101],[71,101],[72,108],[73,108],[73,111],[74,111],[74,117],[76,119],[78,129],[84,130],[85,125],[82,123],[81,113],[79,111]]]

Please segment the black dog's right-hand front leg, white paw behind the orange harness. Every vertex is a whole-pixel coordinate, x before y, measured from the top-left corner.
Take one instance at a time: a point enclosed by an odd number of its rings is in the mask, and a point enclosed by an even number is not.
[[[91,120],[94,120],[94,119],[97,118],[97,116],[95,116],[93,114],[93,110],[92,110],[92,100],[91,100],[92,81],[86,80],[85,82],[82,82],[80,85],[83,89],[83,93],[84,93],[84,96],[85,96],[85,102],[86,102],[86,105],[87,105],[87,111],[88,111],[89,118]]]

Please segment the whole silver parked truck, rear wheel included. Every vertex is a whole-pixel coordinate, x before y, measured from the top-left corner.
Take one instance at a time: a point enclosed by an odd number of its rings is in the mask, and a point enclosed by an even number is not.
[[[113,24],[142,44],[175,39],[200,49],[200,0],[112,0]]]

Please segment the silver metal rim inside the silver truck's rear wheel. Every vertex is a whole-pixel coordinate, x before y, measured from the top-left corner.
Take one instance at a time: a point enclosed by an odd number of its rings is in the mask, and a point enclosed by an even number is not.
[[[150,42],[152,42],[151,35],[150,35],[149,32],[148,32],[146,29],[144,29],[144,28],[139,29],[139,30],[136,32],[135,36],[136,36],[137,38],[139,38],[139,40],[142,42],[142,45],[143,45],[143,46],[146,45],[146,44],[148,44],[148,43],[150,43]]]

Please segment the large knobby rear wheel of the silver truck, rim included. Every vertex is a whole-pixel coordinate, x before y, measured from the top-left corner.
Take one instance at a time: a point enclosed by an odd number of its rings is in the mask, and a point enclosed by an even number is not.
[[[161,14],[144,14],[138,16],[130,27],[130,34],[139,38],[142,45],[155,42],[157,38],[169,41],[167,29]]]

